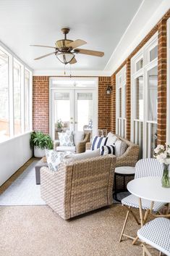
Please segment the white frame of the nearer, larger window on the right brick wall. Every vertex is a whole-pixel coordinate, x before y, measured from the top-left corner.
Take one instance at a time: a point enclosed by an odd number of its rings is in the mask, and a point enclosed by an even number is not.
[[[137,143],[137,138],[134,136],[135,125],[137,125],[137,122],[139,122],[138,125],[143,123],[143,145],[140,144],[141,138],[139,138],[139,144],[140,146],[143,146],[143,156],[140,157],[144,158],[151,157],[150,153],[148,152],[150,145],[147,143],[147,125],[152,123],[157,124],[157,121],[148,120],[148,71],[153,67],[158,66],[158,57],[149,62],[148,54],[150,50],[153,49],[156,45],[158,45],[158,33],[155,33],[152,38],[150,38],[150,40],[145,44],[145,46],[143,46],[143,48],[140,49],[140,51],[138,51],[137,54],[135,54],[135,56],[131,59],[131,141]],[[136,71],[136,63],[139,59],[141,59],[141,57],[143,57],[143,68]],[[135,79],[140,75],[143,75],[143,120],[135,119],[135,110],[137,108],[135,103]]]

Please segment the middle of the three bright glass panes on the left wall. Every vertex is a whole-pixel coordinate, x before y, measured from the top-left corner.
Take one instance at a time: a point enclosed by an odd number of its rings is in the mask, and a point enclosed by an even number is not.
[[[21,133],[21,66],[14,61],[14,135]]]

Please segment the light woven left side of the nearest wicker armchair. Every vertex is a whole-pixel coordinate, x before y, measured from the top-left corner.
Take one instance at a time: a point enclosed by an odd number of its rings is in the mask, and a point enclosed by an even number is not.
[[[66,168],[70,170],[66,171]],[[47,167],[41,168],[41,198],[64,220],[71,215],[71,186],[72,165],[59,165],[56,172]]]

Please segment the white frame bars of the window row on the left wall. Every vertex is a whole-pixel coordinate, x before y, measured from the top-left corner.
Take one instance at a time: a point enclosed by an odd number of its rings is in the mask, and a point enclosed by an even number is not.
[[[0,49],[4,51],[9,57],[9,72],[8,72],[8,83],[9,83],[9,138],[10,139],[22,136],[25,133],[30,133],[33,131],[33,70],[25,64],[19,57],[17,57],[14,52],[8,49],[0,41]],[[21,65],[21,133],[14,136],[14,61]],[[29,99],[29,131],[25,132],[25,106],[24,106],[24,96],[25,96],[25,70],[30,73],[30,99]],[[0,144],[5,143],[5,141],[0,141]]]

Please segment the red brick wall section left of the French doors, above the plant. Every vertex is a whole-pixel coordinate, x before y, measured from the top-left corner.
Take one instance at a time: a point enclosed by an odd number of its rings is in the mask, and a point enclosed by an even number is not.
[[[48,76],[33,76],[33,131],[49,132]]]

